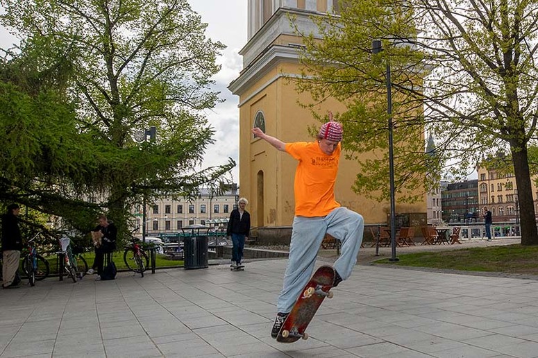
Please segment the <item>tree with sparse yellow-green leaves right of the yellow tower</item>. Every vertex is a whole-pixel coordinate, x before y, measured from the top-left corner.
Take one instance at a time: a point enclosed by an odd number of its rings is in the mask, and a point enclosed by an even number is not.
[[[397,200],[412,200],[403,192],[431,188],[442,176],[462,176],[480,158],[506,150],[516,176],[521,243],[538,244],[528,161],[537,125],[538,4],[512,0],[340,4],[339,15],[314,18],[321,38],[303,34],[305,67],[298,86],[312,93],[314,102],[332,96],[346,104],[340,115],[346,126],[344,145],[362,165],[355,189],[379,198],[388,193],[385,69],[389,64]],[[371,51],[373,40],[383,42],[383,51],[376,55]],[[425,155],[425,142],[417,140],[425,132],[435,138],[435,155]],[[358,153],[369,151],[377,156],[358,158]]]

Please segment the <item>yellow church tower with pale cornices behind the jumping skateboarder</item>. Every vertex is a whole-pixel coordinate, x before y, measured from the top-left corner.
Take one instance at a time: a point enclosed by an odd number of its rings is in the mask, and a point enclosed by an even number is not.
[[[298,94],[290,78],[301,73],[297,49],[301,37],[294,34],[290,16],[303,31],[317,33],[312,16],[339,11],[337,0],[248,0],[248,41],[239,52],[243,69],[229,89],[239,96],[240,194],[249,199],[251,225],[258,237],[287,237],[294,217],[296,160],[251,134],[253,127],[283,142],[310,142],[309,127],[321,123],[299,103],[311,103]],[[326,101],[317,108],[321,115],[345,110],[342,103]],[[344,128],[346,130],[346,128]],[[345,153],[345,146],[344,146]],[[351,187],[358,173],[356,162],[342,159],[335,187],[336,200],[359,212],[368,223],[387,223],[389,202],[378,203],[358,196]],[[388,179],[387,179],[388,180]],[[426,194],[419,203],[398,203],[396,213],[411,213],[414,225],[426,223]],[[418,219],[417,219],[418,218]],[[410,223],[411,224],[411,223]]]

